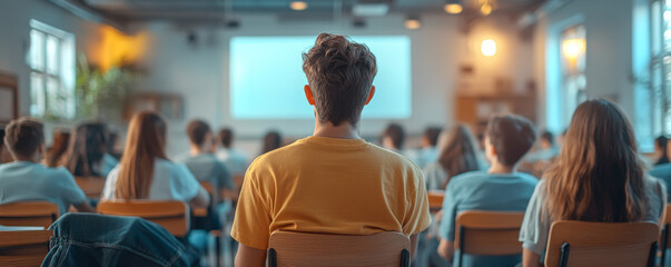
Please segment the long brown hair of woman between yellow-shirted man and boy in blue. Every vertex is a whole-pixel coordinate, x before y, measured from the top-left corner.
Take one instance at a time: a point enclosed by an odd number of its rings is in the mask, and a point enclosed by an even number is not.
[[[475,139],[465,126],[460,125],[443,131],[438,140],[438,164],[448,177],[443,181],[441,188],[447,186],[451,177],[480,169]]]

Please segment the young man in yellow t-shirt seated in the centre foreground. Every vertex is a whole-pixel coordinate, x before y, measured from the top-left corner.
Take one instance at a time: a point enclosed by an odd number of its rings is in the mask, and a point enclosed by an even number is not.
[[[273,231],[371,235],[411,239],[431,224],[422,171],[408,159],[358,136],[375,93],[375,56],[343,36],[322,33],[303,55],[312,137],[259,156],[245,176],[230,235],[236,266],[265,266]]]

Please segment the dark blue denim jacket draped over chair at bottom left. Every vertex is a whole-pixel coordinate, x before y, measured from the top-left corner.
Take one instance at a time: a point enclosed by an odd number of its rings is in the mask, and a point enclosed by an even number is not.
[[[193,266],[198,260],[166,229],[137,217],[66,214],[49,229],[53,237],[42,267]]]

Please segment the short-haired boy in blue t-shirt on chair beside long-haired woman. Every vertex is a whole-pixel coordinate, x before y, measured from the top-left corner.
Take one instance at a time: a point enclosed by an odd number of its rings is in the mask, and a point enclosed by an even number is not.
[[[438,236],[438,255],[453,261],[455,220],[461,211],[524,211],[537,179],[516,172],[517,162],[535,140],[535,129],[527,119],[513,116],[493,117],[485,132],[489,171],[471,171],[453,177],[447,184]],[[521,255],[464,255],[462,266],[515,266]]]

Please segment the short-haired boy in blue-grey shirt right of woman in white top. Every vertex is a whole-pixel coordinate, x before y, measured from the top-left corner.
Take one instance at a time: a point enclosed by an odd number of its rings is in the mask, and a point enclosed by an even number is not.
[[[203,120],[191,120],[187,126],[190,156],[182,164],[199,181],[209,181],[218,188],[233,189],[233,178],[223,162],[214,155],[216,142],[209,125]]]

